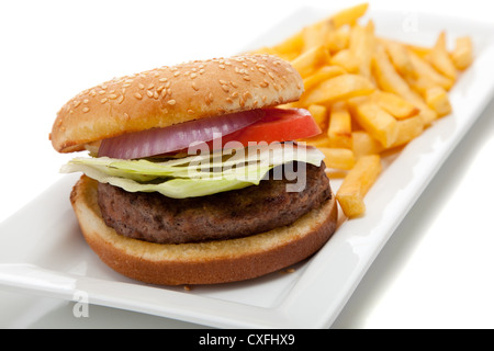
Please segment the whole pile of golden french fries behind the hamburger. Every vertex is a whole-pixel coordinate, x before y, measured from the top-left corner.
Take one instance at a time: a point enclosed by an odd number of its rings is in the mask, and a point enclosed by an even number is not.
[[[304,81],[300,101],[323,134],[306,139],[341,170],[336,199],[348,217],[366,212],[363,197],[382,171],[381,157],[397,150],[451,112],[448,91],[473,60],[472,41],[447,49],[446,33],[431,47],[377,36],[372,20],[358,21],[368,3],[343,10],[256,53],[292,63]]]

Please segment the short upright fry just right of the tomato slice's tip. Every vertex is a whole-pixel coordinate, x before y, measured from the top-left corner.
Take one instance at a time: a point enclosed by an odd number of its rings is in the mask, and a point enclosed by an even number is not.
[[[352,149],[351,115],[345,103],[335,103],[329,112],[329,146]]]

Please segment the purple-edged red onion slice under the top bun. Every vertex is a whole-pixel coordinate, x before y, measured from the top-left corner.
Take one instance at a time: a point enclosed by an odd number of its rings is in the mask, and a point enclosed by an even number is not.
[[[98,156],[133,159],[187,149],[192,143],[211,141],[261,120],[260,109],[202,118],[103,139]]]

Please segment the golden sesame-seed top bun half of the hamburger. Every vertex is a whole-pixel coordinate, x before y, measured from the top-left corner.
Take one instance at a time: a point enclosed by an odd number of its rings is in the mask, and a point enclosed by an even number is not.
[[[106,81],[69,100],[49,135],[59,152],[154,127],[299,100],[303,81],[270,55],[197,60]]]

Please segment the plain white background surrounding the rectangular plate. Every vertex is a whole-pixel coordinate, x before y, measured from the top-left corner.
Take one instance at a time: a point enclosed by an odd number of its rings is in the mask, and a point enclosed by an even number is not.
[[[72,156],[57,154],[48,133],[58,109],[79,91],[148,68],[242,52],[302,7],[330,14],[358,2],[0,2],[0,222],[61,177],[59,166]],[[372,1],[370,10],[494,22],[490,2]],[[383,248],[335,328],[494,327],[493,136],[491,102]],[[0,327],[194,326],[99,306],[77,319],[71,303],[0,292]]]

